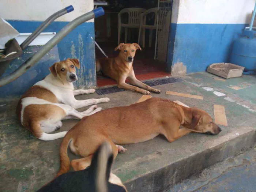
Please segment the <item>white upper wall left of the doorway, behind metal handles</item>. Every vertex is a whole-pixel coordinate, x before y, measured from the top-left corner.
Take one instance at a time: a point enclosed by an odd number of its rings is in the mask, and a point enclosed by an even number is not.
[[[69,5],[74,11],[61,16],[56,21],[71,21],[93,10],[93,0],[1,0],[0,17],[7,20],[44,21],[54,12]],[[94,19],[88,22],[94,22]]]

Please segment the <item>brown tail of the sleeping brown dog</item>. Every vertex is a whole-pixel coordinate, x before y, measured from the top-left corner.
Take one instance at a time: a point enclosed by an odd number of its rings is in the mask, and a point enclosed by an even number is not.
[[[60,170],[57,173],[56,177],[60,176],[61,174],[67,173],[70,167],[70,159],[68,157],[68,146],[71,142],[71,134],[67,134],[60,146]]]

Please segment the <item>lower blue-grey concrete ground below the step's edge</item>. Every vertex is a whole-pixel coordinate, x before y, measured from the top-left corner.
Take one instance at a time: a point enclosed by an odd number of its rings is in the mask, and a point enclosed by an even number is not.
[[[255,181],[256,146],[194,174],[168,192],[255,192]]]

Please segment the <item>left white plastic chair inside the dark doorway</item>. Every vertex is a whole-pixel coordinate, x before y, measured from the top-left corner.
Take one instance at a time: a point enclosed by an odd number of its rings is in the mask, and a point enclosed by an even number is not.
[[[125,29],[125,43],[127,43],[128,28],[139,28],[140,27],[140,14],[146,9],[143,8],[125,8],[118,13],[118,44],[120,44],[121,29]],[[121,16],[124,13],[128,13],[128,23],[121,22]]]

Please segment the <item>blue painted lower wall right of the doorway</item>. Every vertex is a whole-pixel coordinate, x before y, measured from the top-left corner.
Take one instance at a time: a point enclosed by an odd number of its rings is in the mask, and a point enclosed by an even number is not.
[[[228,62],[235,39],[248,24],[170,24],[167,63],[182,62],[187,73],[206,71],[212,63]]]

